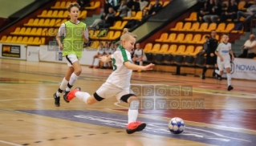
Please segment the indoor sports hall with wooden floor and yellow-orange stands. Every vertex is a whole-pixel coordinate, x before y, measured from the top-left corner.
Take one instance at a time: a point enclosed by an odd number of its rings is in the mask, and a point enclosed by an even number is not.
[[[70,63],[55,36],[59,27],[71,19],[67,6],[72,2],[79,3],[77,19],[86,24],[89,41],[83,44],[81,73],[71,91],[80,87],[93,95],[106,82],[115,71],[115,63],[98,59],[101,45],[120,47],[124,30],[136,34],[145,58],[143,64],[128,61],[138,66],[155,64],[150,71],[132,71],[131,89],[140,101],[137,120],[146,124],[142,131],[126,132],[129,104],[115,96],[87,105],[77,98],[67,103],[62,93],[59,105],[55,103],[53,95]],[[254,0],[1,3],[1,146],[255,145],[256,19],[248,11],[256,6]],[[127,12],[122,17],[124,5]],[[207,6],[215,10],[218,7],[220,15],[205,18],[209,16],[205,14]],[[235,6],[236,15],[231,17],[230,7]],[[213,9],[209,9],[210,14],[214,14]],[[108,19],[111,13],[115,16]],[[102,22],[104,15],[109,17]],[[228,34],[234,53],[230,63],[234,89],[230,91],[226,69],[218,78],[213,75],[216,67],[210,64],[205,78],[201,77],[209,57],[202,53],[207,46],[205,36],[212,37],[213,31],[218,43],[222,42],[222,34]],[[255,45],[247,47],[246,41],[255,41]],[[209,51],[209,45],[205,51]],[[98,57],[94,59],[95,55]]]

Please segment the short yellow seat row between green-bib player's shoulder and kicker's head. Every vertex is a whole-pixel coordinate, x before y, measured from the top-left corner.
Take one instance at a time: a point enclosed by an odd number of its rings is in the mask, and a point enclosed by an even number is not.
[[[105,39],[105,40],[114,40],[118,39],[121,35],[121,31],[109,30],[107,34],[99,37],[100,30],[89,30],[90,39]]]

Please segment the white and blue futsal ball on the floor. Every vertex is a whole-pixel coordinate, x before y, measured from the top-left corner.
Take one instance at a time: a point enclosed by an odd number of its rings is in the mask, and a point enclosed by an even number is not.
[[[169,121],[168,127],[173,134],[181,134],[185,129],[185,123],[181,118],[175,117]]]

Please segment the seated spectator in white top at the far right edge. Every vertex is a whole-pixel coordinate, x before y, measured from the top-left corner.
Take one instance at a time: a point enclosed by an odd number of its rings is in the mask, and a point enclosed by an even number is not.
[[[256,40],[254,34],[250,34],[250,39],[242,46],[242,50],[242,55],[239,55],[238,58],[253,59],[256,57]]]

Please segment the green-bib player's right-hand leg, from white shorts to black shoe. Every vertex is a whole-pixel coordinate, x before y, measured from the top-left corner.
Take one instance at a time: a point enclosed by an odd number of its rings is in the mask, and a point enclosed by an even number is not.
[[[82,73],[82,68],[80,66],[79,60],[77,59],[76,55],[67,55],[67,61],[71,63],[72,67],[74,68],[73,73],[70,76],[70,79],[67,83],[67,88],[63,93],[63,99],[66,99],[66,96],[69,91],[71,91],[71,87],[73,87],[75,81],[78,79],[79,75]],[[65,100],[67,102],[67,100]],[[67,102],[68,103],[68,102]]]

